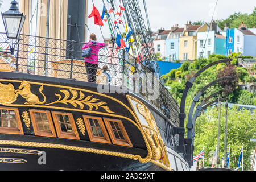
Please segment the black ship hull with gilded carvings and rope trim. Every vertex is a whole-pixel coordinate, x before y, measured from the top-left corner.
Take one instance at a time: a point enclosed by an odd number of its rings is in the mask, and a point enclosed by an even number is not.
[[[136,94],[100,94],[97,84],[23,73],[0,72],[0,78],[1,112],[15,111],[18,122],[0,127],[0,170],[189,170],[176,152],[174,123]],[[48,131],[37,128],[36,112],[49,113]],[[56,113],[73,122],[61,123]],[[88,124],[93,118],[102,121],[102,136]],[[122,128],[109,129],[110,122]]]

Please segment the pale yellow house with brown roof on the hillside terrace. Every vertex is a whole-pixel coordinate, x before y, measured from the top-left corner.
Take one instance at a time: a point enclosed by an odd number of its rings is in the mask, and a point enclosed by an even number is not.
[[[184,31],[179,40],[179,60],[196,59],[197,33],[208,30],[208,25],[185,24]]]

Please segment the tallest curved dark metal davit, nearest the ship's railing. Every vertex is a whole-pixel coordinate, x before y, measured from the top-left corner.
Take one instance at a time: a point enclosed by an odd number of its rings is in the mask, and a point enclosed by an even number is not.
[[[212,67],[213,65],[219,64],[219,63],[228,63],[232,61],[232,59],[224,59],[224,60],[219,60],[219,61],[214,61],[213,63],[210,63],[208,65],[206,65],[205,67],[201,68],[192,78],[191,80],[187,81],[185,84],[185,89],[183,91],[183,95],[181,97],[181,101],[180,101],[180,113],[179,113],[179,121],[180,121],[180,126],[176,127],[174,130],[174,135],[178,134],[179,135],[179,146],[177,147],[178,152],[182,152],[184,153],[184,144],[186,143],[191,143],[191,139],[190,140],[184,140],[184,134],[185,134],[185,128],[184,128],[184,121],[186,118],[186,114],[185,114],[185,101],[187,98],[187,94],[189,89],[192,88],[193,86],[193,82],[196,80],[196,78],[203,73],[206,69]]]

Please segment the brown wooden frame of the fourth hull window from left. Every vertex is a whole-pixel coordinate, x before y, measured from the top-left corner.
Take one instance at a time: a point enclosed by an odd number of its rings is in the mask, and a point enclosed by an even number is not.
[[[106,131],[106,128],[104,126],[104,122],[101,117],[93,117],[93,116],[89,116],[89,115],[83,115],[82,117],[84,118],[86,130],[88,132],[90,141],[112,144],[111,140],[109,138],[108,132]],[[98,136],[93,135],[92,126],[90,125],[89,119],[97,119],[104,137],[98,137]]]

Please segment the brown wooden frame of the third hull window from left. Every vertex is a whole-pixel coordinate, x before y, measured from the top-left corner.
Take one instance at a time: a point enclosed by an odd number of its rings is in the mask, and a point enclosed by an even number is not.
[[[58,115],[58,114],[59,115],[68,115],[72,130],[73,130],[73,134],[61,131],[60,122],[58,121],[58,119],[56,117],[56,115]],[[53,122],[55,124],[55,128],[57,131],[57,136],[59,138],[80,140],[79,133],[77,131],[76,124],[75,124],[72,113],[63,113],[63,112],[58,112],[58,111],[52,111],[52,118],[53,118]]]

